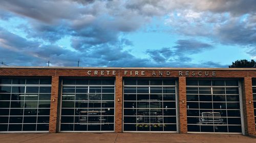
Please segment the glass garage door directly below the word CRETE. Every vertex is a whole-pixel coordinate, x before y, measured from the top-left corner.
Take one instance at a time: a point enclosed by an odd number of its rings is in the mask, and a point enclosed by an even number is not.
[[[63,79],[60,131],[114,131],[115,80]]]

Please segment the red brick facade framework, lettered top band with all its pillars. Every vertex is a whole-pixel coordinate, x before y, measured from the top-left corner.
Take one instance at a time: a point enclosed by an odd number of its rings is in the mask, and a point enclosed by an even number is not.
[[[88,74],[88,71],[97,75]],[[104,74],[101,74],[103,71]],[[112,74],[115,71],[115,74]],[[128,71],[125,74],[125,71]],[[130,72],[132,71],[132,75]],[[135,72],[139,73],[138,75]],[[155,71],[156,75],[152,74]],[[182,75],[179,74],[182,72]],[[216,72],[216,75],[199,75],[198,72]],[[110,72],[111,74],[107,74]],[[159,74],[163,72],[163,74]],[[166,72],[170,72],[166,75]],[[193,72],[196,74],[193,75]],[[143,73],[143,74],[142,74]],[[58,129],[58,107],[60,102],[59,96],[59,77],[64,76],[80,76],[80,77],[116,77],[116,97],[115,97],[115,132],[122,132],[122,79],[123,77],[173,77],[179,78],[179,130],[180,133],[187,133],[187,118],[186,118],[186,77],[208,77],[208,78],[240,78],[243,80],[243,112],[245,121],[245,131],[247,134],[256,134],[254,125],[254,113],[252,102],[252,85],[251,78],[256,78],[256,70],[251,69],[168,69],[168,68],[145,68],[145,69],[123,69],[123,68],[0,68],[0,76],[48,76],[52,77],[52,97],[50,111],[50,132],[56,132]],[[118,101],[119,99],[119,101]],[[184,103],[182,102],[184,101]],[[251,101],[251,104],[249,104]]]

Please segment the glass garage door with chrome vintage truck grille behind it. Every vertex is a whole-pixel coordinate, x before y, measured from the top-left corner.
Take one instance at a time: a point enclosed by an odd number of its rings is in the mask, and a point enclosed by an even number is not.
[[[187,80],[188,132],[242,132],[238,80]]]

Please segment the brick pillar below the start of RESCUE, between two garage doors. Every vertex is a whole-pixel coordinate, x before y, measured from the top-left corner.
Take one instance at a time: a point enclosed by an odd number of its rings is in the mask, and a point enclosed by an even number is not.
[[[186,77],[179,77],[179,130],[180,133],[187,133],[187,103],[186,103]]]

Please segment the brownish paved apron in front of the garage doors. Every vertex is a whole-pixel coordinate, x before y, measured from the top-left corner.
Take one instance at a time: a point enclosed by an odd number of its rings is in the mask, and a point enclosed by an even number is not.
[[[237,134],[177,133],[4,133],[0,142],[246,142],[255,143],[256,136]]]

